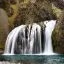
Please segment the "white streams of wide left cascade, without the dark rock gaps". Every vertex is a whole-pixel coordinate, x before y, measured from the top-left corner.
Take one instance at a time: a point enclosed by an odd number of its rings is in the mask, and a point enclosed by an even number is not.
[[[33,48],[34,48],[34,41],[36,39],[36,32],[38,32],[38,39],[39,39],[39,47],[40,47],[40,52],[42,52],[42,47],[41,47],[41,34],[40,34],[40,30],[41,30],[41,27],[34,23],[32,26],[29,25],[27,30],[28,30],[28,33],[27,33],[27,36],[28,36],[28,39],[26,39],[26,34],[25,34],[25,29],[26,29],[26,25],[21,25],[19,27],[16,27],[15,29],[13,29],[8,37],[7,37],[7,40],[6,40],[6,44],[5,44],[5,51],[4,51],[4,54],[8,54],[8,55],[13,55],[14,54],[14,50],[15,50],[15,44],[17,43],[16,40],[17,40],[17,37],[18,37],[18,34],[19,33],[23,33],[23,37],[21,38],[22,39],[22,49],[20,50],[21,51],[21,54],[27,54],[27,51],[28,51],[28,54],[32,54],[33,52]],[[32,28],[31,28],[32,27]],[[36,31],[37,29],[37,31]],[[35,38],[34,38],[35,37]],[[27,40],[27,46],[26,46],[26,40]]]

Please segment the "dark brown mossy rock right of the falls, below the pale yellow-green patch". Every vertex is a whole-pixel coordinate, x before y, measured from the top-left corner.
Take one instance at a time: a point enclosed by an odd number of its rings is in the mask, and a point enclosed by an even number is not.
[[[55,30],[52,35],[54,52],[64,54],[64,12],[57,21]]]

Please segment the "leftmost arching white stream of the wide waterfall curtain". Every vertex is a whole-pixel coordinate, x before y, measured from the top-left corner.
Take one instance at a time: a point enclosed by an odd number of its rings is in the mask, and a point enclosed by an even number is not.
[[[4,54],[12,54],[12,55],[14,54],[14,44],[16,42],[16,38],[18,36],[19,30],[23,27],[25,27],[25,25],[16,27],[9,33],[7,40],[6,40],[6,44],[5,44]],[[12,45],[12,47],[11,47],[11,45]],[[10,47],[11,47],[11,52],[10,52]]]

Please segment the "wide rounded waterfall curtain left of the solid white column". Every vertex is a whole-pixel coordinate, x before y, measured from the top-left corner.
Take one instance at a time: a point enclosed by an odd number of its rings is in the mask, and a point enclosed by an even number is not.
[[[35,43],[38,45],[36,46]],[[42,52],[41,27],[38,24],[21,25],[9,33],[4,54],[36,54],[40,52]]]

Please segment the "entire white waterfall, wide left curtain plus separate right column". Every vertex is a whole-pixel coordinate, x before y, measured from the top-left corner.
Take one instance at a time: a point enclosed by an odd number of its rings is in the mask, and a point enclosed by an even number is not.
[[[53,54],[51,36],[56,20],[44,24],[46,25],[45,30],[36,23],[28,26],[21,25],[13,29],[7,37],[4,54]],[[44,36],[41,35],[42,32]],[[44,42],[42,42],[41,36],[45,38]],[[43,43],[45,43],[44,52]]]

